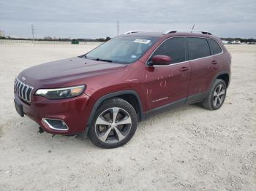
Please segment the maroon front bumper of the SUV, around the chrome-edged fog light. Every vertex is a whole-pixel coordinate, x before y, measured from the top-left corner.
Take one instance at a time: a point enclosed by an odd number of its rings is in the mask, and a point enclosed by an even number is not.
[[[15,101],[22,105],[23,113],[38,123],[48,133],[71,135],[83,133],[86,130],[87,121],[92,104],[89,96],[82,94],[75,98],[61,100],[49,100],[42,96],[32,96],[31,103],[26,104],[15,93]],[[56,130],[44,119],[62,120],[68,127],[67,130]]]

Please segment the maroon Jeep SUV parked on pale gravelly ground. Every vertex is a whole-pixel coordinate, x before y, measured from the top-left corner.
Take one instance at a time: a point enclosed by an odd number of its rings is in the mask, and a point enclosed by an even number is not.
[[[195,103],[219,109],[230,63],[221,40],[205,31],[130,31],[22,71],[15,107],[48,133],[88,133],[99,147],[118,147],[152,114]]]

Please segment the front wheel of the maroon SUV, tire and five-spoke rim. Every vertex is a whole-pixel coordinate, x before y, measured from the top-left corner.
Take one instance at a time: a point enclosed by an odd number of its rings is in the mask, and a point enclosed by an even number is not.
[[[120,147],[132,139],[137,125],[138,116],[132,105],[121,98],[111,98],[95,112],[89,138],[97,147]]]

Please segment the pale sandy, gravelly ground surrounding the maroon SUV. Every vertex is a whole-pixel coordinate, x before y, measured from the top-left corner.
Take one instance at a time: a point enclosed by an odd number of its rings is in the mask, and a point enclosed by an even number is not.
[[[255,45],[227,46],[233,74],[218,111],[158,114],[117,149],[37,133],[15,112],[15,76],[93,46],[0,44],[0,190],[256,190]]]

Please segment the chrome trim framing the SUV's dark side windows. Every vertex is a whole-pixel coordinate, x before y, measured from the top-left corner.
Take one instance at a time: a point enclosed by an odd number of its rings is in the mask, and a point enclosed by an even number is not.
[[[200,39],[211,39],[211,38],[206,38],[206,37],[201,37],[201,36],[170,36],[169,38],[165,39],[163,42],[161,42],[157,47],[156,49],[151,53],[151,55],[154,54],[154,52],[159,48],[159,46],[161,46],[165,41],[167,41],[168,39],[173,39],[173,38],[178,38],[178,37],[189,37],[189,38],[200,38]],[[211,39],[211,40],[214,40],[215,42],[217,42],[215,39]],[[207,42],[208,43],[208,42]],[[219,42],[217,42],[217,44],[219,45]],[[187,45],[186,45],[187,46]],[[209,49],[211,51],[211,47],[210,45],[208,44],[209,46]],[[219,47],[222,49],[222,46],[219,45]],[[222,49],[222,52],[220,52],[219,54],[216,54],[216,55],[221,55],[223,53],[223,49]],[[148,63],[148,60],[149,58],[151,58],[151,55],[148,56],[148,59],[145,63],[146,67],[152,67],[152,66],[148,66],[147,63]],[[153,67],[163,67],[163,66],[174,66],[174,65],[177,65],[177,64],[180,64],[180,63],[187,63],[189,61],[197,61],[197,60],[200,60],[200,59],[203,59],[203,58],[211,58],[212,56],[214,55],[208,55],[206,57],[202,57],[202,58],[196,58],[196,59],[192,59],[192,60],[188,60],[188,61],[183,61],[183,62],[178,62],[178,63],[171,63],[171,64],[168,64],[168,65],[153,65]]]

